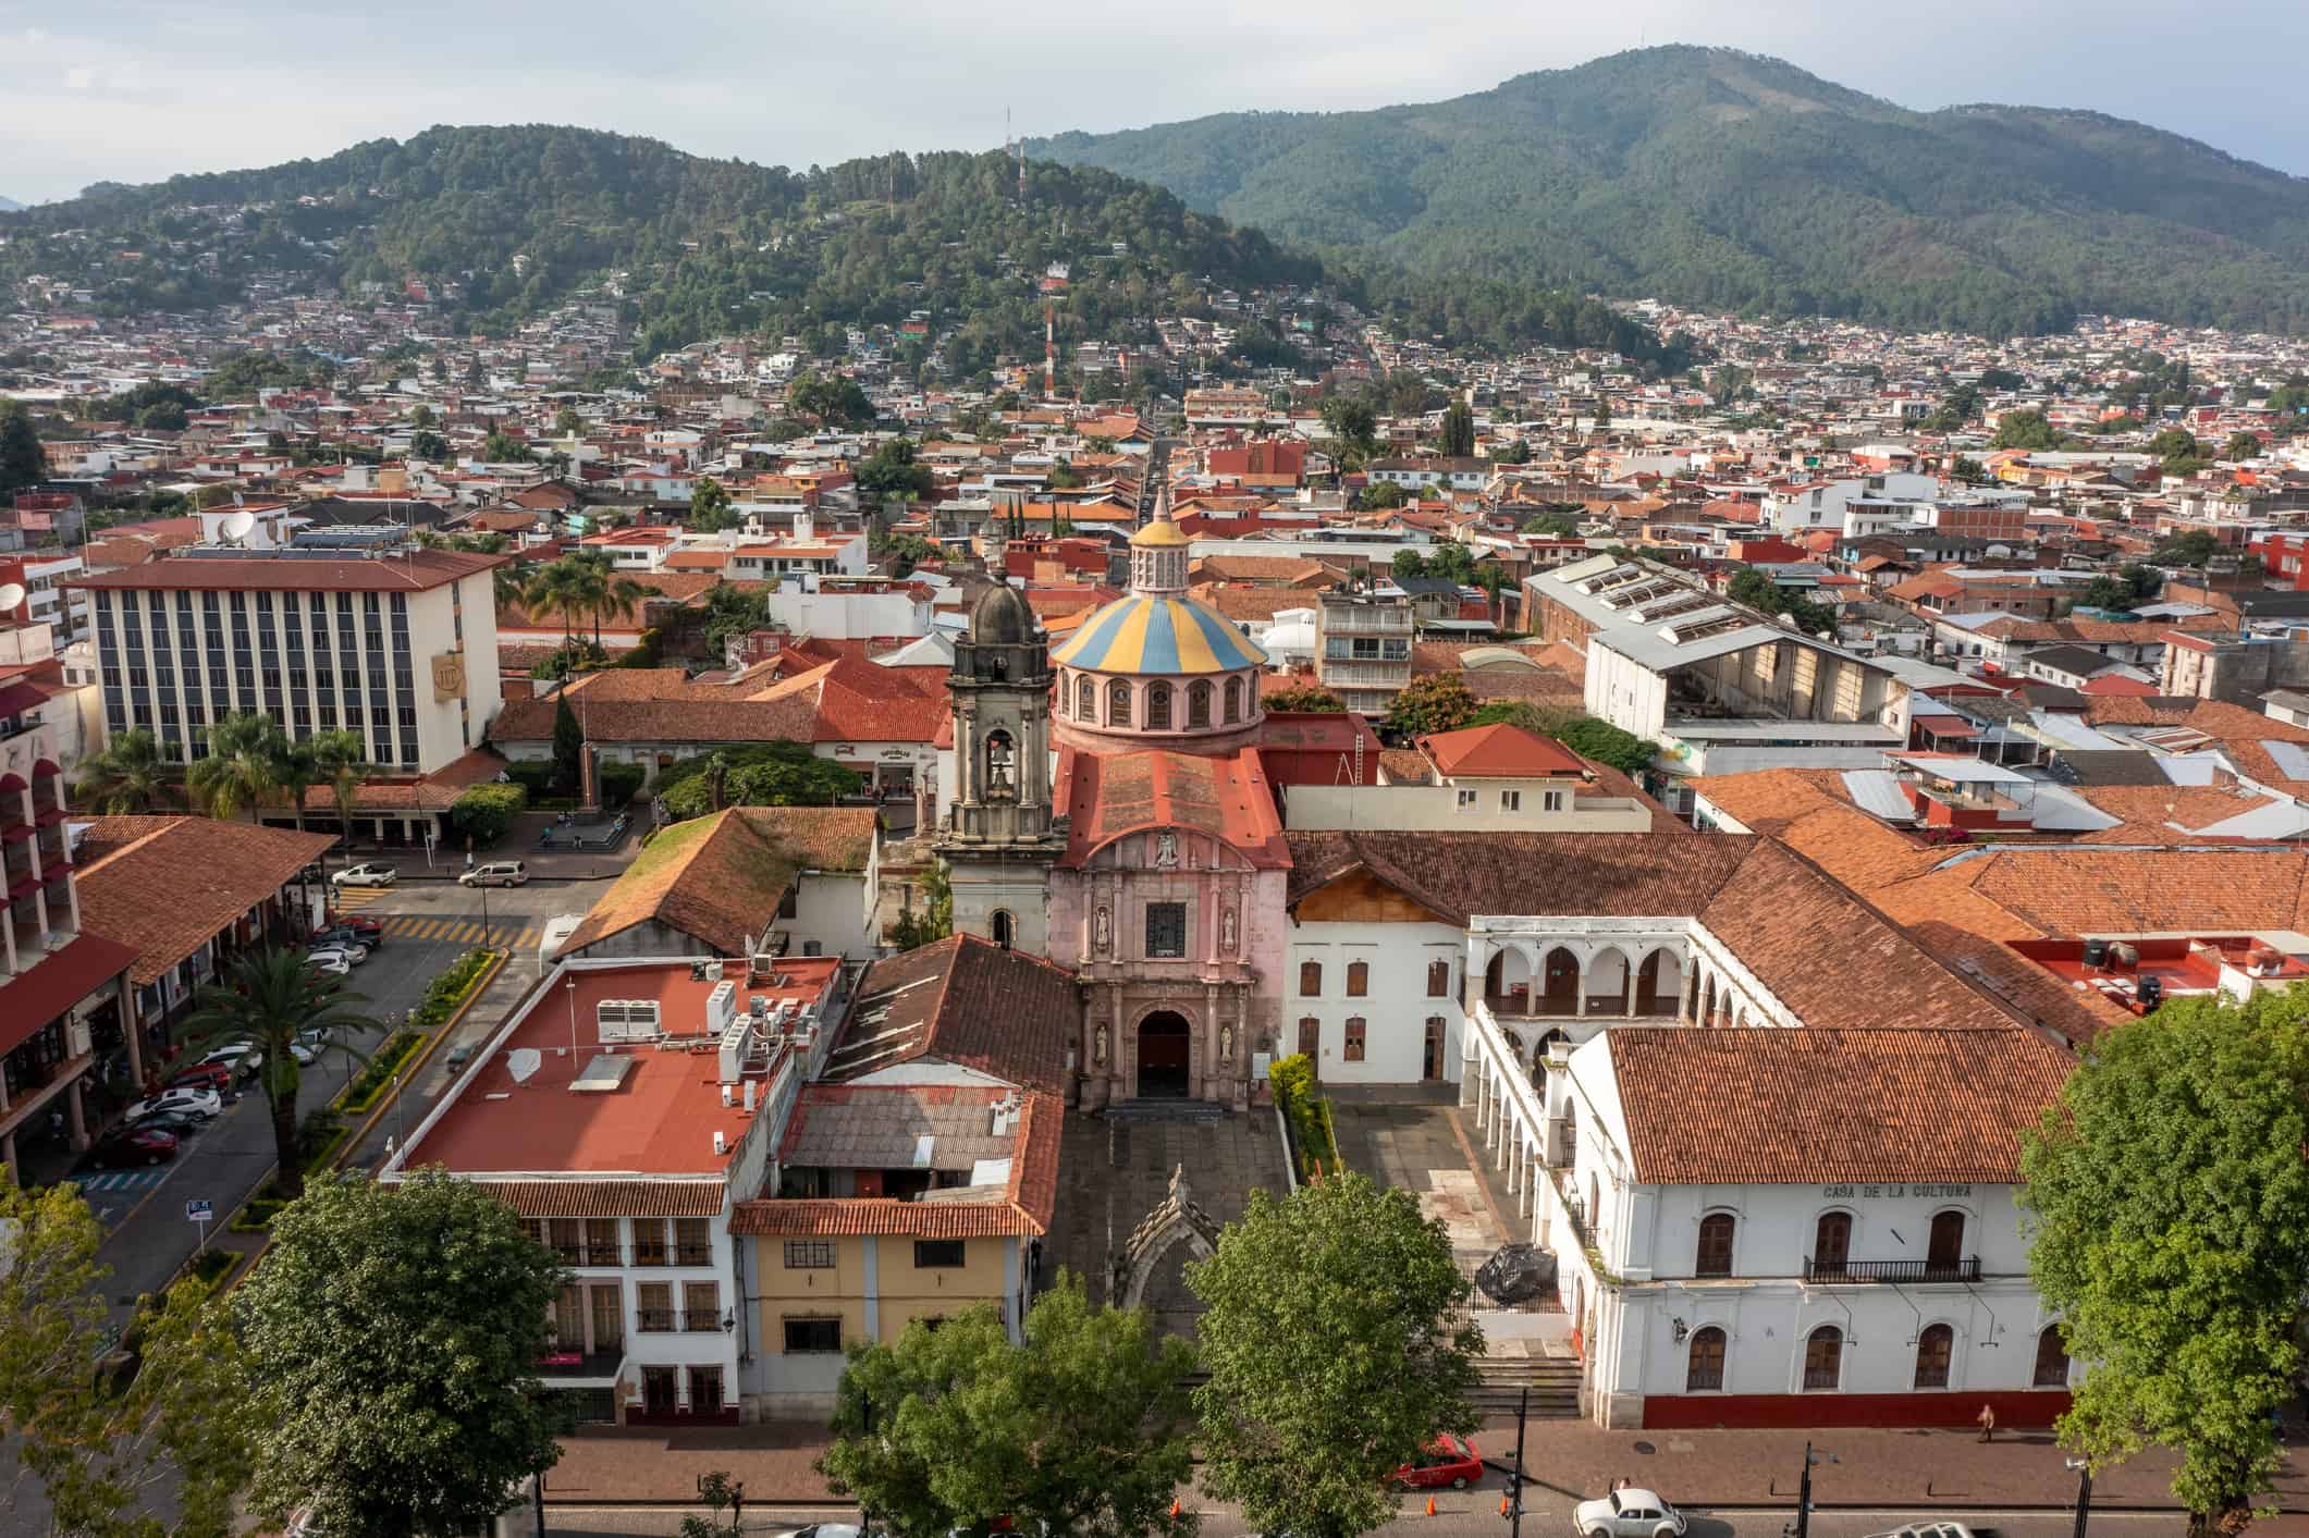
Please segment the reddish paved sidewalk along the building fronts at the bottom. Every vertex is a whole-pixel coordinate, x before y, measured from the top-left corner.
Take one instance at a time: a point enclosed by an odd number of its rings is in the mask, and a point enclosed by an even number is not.
[[[1803,1446],[1836,1453],[1813,1469],[1813,1503],[1822,1508],[2067,1510],[2076,1476],[2046,1432],[1997,1436],[1977,1432],[1605,1432],[1584,1420],[1533,1420],[1524,1471],[1533,1485],[1568,1499],[1593,1499],[1614,1478],[1649,1485],[1676,1506],[1739,1508],[1796,1503]],[[561,1462],[545,1476],[545,1499],[561,1503],[686,1503],[697,1476],[713,1469],[746,1480],[748,1506],[838,1503],[810,1469],[827,1443],[815,1423],[764,1423],[716,1429],[580,1432],[561,1441]],[[1494,1418],[1475,1432],[1485,1462],[1515,1457],[1515,1420]],[[2168,1453],[2143,1453],[2092,1480],[2094,1508],[2175,1510]],[[2309,1510],[2309,1459],[2302,1443],[2277,1476],[2277,1506]],[[1503,1487],[1487,1480],[1485,1487]]]

